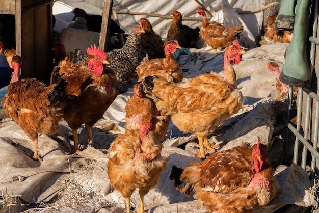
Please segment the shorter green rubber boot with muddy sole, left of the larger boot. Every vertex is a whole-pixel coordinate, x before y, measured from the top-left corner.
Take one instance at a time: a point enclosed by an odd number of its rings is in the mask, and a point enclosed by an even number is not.
[[[295,22],[295,3],[295,0],[281,1],[281,6],[275,20],[275,30],[293,31]]]

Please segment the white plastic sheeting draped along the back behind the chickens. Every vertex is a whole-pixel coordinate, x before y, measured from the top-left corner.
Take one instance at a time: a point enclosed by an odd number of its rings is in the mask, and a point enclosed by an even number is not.
[[[63,27],[72,20],[74,14],[71,13],[73,8],[79,7],[87,11],[88,14],[102,13],[102,5],[100,1],[89,1],[91,4],[95,4],[97,7],[92,6],[86,2],[76,0],[59,0],[55,1],[53,5],[53,14],[56,16],[57,24],[55,30],[61,32]],[[247,48],[254,48],[257,45],[257,37],[260,36],[262,23],[263,23],[263,11],[250,14],[238,14],[234,8],[238,11],[248,11],[257,9],[264,6],[264,0],[257,1],[227,1],[227,0],[213,0],[201,2],[212,14],[211,20],[223,23],[226,26],[238,26],[243,25],[243,38],[241,39],[241,45]],[[100,8],[98,8],[100,7]],[[183,17],[197,17],[201,18],[196,13],[196,9],[199,5],[195,1],[180,0],[180,1],[113,1],[113,9],[116,11],[124,12],[140,12],[140,13],[157,13],[166,16],[172,16],[172,11],[179,11]],[[167,31],[171,25],[172,19],[145,16],[145,15],[130,15],[130,14],[118,14],[120,26],[128,34],[130,29],[136,25],[139,25],[138,20],[143,17],[147,18],[153,26],[153,30],[161,35],[163,39],[167,38]],[[185,25],[196,28],[201,27],[201,21],[189,21],[184,20],[182,22]],[[205,46],[205,44],[204,44]],[[203,42],[198,42],[197,48],[203,47]]]

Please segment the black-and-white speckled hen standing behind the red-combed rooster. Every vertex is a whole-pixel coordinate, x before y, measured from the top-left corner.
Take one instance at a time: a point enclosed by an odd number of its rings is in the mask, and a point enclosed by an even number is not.
[[[121,49],[108,52],[108,65],[114,71],[120,85],[137,79],[136,67],[142,61],[141,58],[141,34],[145,31],[141,27],[133,28]]]

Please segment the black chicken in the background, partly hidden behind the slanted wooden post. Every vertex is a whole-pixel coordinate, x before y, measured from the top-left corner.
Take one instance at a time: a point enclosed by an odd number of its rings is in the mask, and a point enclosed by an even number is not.
[[[101,24],[102,24],[102,16],[100,15],[95,15],[95,14],[87,14],[85,10],[81,8],[74,8],[73,10],[74,13],[74,18],[73,21],[76,17],[82,17],[87,21],[87,27],[89,31],[101,32]],[[125,33],[123,29],[120,28],[116,24],[116,22],[113,19],[110,19],[111,25],[110,25],[110,32],[109,32],[109,37],[114,36],[115,33]]]

